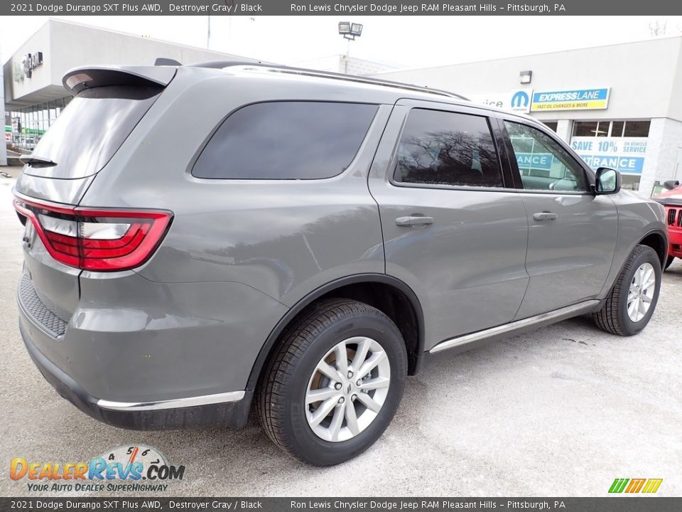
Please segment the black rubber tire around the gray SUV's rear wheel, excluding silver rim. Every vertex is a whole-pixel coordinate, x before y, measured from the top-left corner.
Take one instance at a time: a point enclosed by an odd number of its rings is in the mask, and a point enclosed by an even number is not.
[[[374,339],[388,356],[390,384],[377,417],[359,434],[330,442],[313,432],[305,415],[305,393],[318,362],[337,343],[353,336]],[[256,407],[270,439],[296,459],[314,466],[340,464],[361,454],[383,434],[403,396],[407,375],[405,343],[384,313],[362,302],[324,299],[284,332],[258,389]]]

